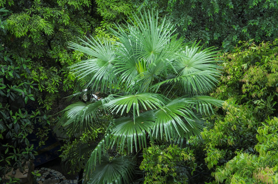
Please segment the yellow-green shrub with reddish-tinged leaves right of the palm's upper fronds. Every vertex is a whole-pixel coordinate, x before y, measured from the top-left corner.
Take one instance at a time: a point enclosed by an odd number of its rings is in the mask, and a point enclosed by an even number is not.
[[[234,53],[224,54],[224,73],[213,96],[223,100],[233,97],[237,103],[251,105],[259,121],[276,114],[277,41],[259,45],[241,42]]]

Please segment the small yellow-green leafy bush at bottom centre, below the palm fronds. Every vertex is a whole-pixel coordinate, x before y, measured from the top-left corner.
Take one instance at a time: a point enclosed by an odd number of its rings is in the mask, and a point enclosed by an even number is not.
[[[144,183],[188,183],[196,167],[193,151],[177,145],[152,145],[144,149],[143,158]]]

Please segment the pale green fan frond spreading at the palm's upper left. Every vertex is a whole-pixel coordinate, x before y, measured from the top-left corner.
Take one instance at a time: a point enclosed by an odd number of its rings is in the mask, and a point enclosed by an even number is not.
[[[76,71],[77,77],[89,76],[88,85],[91,88],[101,87],[100,91],[111,88],[112,83],[117,83],[113,68],[116,57],[114,45],[110,41],[104,40],[102,43],[92,37],[88,38],[87,42],[81,41],[85,46],[71,42],[69,48],[86,53],[92,58],[72,65],[72,70]]]

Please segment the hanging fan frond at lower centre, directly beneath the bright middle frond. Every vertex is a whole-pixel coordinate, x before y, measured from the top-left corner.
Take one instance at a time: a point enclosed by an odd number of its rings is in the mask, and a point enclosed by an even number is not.
[[[128,152],[132,152],[133,145],[135,145],[136,152],[138,148],[142,149],[146,147],[146,133],[151,133],[154,121],[153,111],[144,112],[140,117],[135,117],[134,120],[129,117],[115,120],[111,132],[113,144],[116,143],[121,151],[127,147]]]

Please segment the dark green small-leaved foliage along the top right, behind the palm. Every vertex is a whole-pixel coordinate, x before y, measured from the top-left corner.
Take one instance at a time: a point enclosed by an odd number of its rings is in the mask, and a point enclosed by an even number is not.
[[[273,41],[277,35],[277,1],[164,0],[135,1],[138,10],[153,8],[167,15],[186,41],[202,40],[225,51],[239,40]]]

